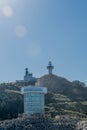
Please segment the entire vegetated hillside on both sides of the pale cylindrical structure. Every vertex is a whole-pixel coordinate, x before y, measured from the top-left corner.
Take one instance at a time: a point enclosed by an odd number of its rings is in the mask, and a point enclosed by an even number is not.
[[[87,87],[83,82],[70,82],[56,75],[44,75],[38,79],[38,85],[45,86],[48,94],[45,98],[45,110],[52,116],[58,114],[87,115]],[[16,118],[23,113],[23,95],[20,88],[28,82],[0,84],[0,119]]]

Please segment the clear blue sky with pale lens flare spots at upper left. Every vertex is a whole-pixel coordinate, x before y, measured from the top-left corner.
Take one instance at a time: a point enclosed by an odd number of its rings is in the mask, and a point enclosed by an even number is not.
[[[48,73],[87,84],[87,0],[0,0],[0,83]]]

